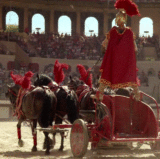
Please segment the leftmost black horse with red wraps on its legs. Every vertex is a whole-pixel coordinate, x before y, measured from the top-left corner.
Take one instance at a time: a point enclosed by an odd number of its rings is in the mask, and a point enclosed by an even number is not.
[[[32,151],[37,151],[37,134],[35,131],[37,122],[42,128],[52,126],[53,119],[55,118],[57,98],[54,92],[50,91],[47,87],[33,87],[22,95],[21,93],[23,91],[24,90],[19,85],[8,86],[6,97],[10,99],[13,110],[16,112],[15,115],[18,116],[17,133],[19,146],[23,146],[23,141],[21,139],[21,123],[29,120],[34,139]],[[51,139],[48,136],[48,132],[44,132],[44,135],[44,142],[46,143],[45,153],[49,154]]]

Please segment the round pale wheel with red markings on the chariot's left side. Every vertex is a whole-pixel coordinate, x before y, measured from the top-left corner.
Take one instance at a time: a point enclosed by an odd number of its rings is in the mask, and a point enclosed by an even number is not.
[[[70,145],[74,157],[83,157],[89,142],[88,129],[82,119],[77,119],[71,129]]]

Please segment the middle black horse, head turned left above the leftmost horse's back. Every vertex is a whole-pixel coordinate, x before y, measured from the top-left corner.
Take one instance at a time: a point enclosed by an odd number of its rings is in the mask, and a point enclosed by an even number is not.
[[[34,81],[35,86],[49,86],[57,97],[56,118],[55,124],[62,124],[65,115],[68,116],[68,121],[72,124],[79,118],[78,98],[74,91],[68,89],[67,86],[58,86],[49,76],[37,74]],[[61,146],[59,150],[63,150],[64,133],[61,134]],[[54,134],[56,135],[56,134]]]

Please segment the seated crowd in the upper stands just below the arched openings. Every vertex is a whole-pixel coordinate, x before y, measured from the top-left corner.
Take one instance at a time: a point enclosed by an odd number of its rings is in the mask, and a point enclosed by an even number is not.
[[[83,59],[96,60],[101,54],[101,43],[104,36],[70,36],[63,34],[29,34],[28,38],[19,36],[16,33],[0,32],[0,40],[16,42],[30,57],[58,58],[58,59]],[[160,59],[159,37],[153,35],[137,36],[136,44],[138,47],[137,59],[145,60],[143,47],[153,46],[156,49],[157,59]],[[29,46],[32,46],[30,49]],[[0,54],[12,54],[0,46]]]

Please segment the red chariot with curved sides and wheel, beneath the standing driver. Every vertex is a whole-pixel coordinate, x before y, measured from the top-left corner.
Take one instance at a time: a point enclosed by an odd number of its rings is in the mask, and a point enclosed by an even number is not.
[[[155,103],[156,113],[142,101],[143,96]],[[117,146],[139,149],[143,144],[149,144],[151,151],[159,156],[159,108],[151,96],[141,92],[141,100],[136,101],[132,96],[104,95],[103,101],[95,104],[95,110],[82,113],[94,114],[94,122],[77,119],[73,123],[70,144],[75,157],[85,155],[89,142],[92,150]]]

